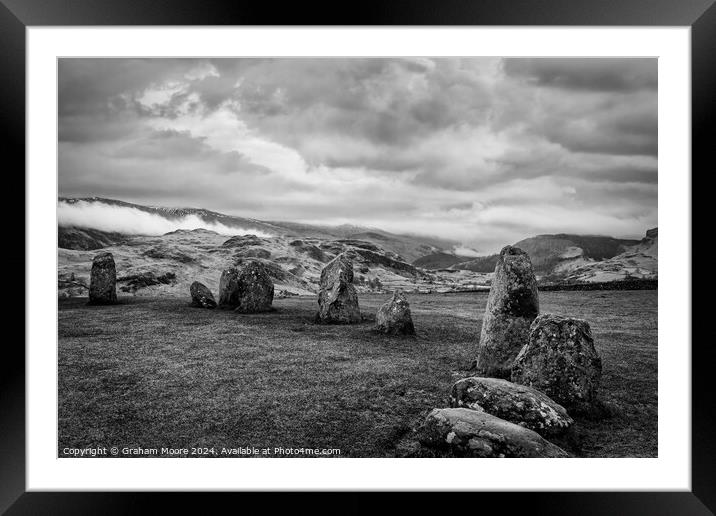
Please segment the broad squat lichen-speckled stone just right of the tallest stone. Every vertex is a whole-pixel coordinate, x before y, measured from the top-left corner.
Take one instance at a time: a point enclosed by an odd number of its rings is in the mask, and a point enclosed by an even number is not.
[[[601,376],[589,323],[552,314],[535,319],[512,366],[513,382],[544,392],[574,413],[591,410]]]

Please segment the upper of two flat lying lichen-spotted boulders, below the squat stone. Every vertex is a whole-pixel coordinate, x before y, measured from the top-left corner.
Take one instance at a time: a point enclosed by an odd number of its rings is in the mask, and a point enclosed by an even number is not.
[[[487,412],[543,436],[566,432],[574,423],[567,411],[541,392],[500,378],[463,378],[450,391],[450,406]]]

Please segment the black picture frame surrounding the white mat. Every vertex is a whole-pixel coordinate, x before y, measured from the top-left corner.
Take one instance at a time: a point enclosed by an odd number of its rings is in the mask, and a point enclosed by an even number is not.
[[[287,3],[216,0],[0,0],[0,134],[6,169],[6,192],[12,192],[15,213],[25,213],[25,29],[28,26],[76,25],[576,25],[691,27],[692,73],[692,235],[708,233],[712,218],[698,195],[709,195],[716,171],[710,135],[716,120],[715,0],[363,0],[360,4]],[[8,160],[7,158],[10,157]],[[9,184],[8,184],[9,183]],[[22,204],[22,206],[20,206]],[[9,207],[7,209],[10,209]],[[20,211],[22,210],[22,211]],[[16,216],[16,219],[19,217]],[[8,270],[24,269],[25,227],[16,220],[9,237],[16,244]],[[700,231],[702,230],[702,231]],[[708,253],[689,253],[692,271],[713,267]],[[25,270],[25,274],[32,271]],[[695,273],[695,272],[694,272]],[[709,276],[712,276],[709,273]],[[24,282],[9,274],[6,291],[15,310],[25,309]],[[475,507],[495,504],[501,513],[529,514],[680,514],[716,512],[716,397],[711,380],[714,363],[713,326],[709,326],[712,282],[700,279],[692,289],[692,342],[660,343],[691,346],[692,356],[692,490],[690,492],[589,493],[470,493]],[[692,282],[693,285],[693,282]],[[705,294],[702,297],[701,292]],[[20,303],[20,292],[23,302]],[[7,300],[8,298],[6,298]],[[13,319],[8,319],[13,320]],[[16,319],[19,320],[19,317]],[[8,324],[6,322],[6,324]],[[710,337],[710,338],[709,338]],[[7,514],[125,514],[142,512],[158,501],[165,511],[206,510],[199,501],[166,493],[39,493],[25,490],[25,352],[23,339],[9,337],[0,360],[0,511]],[[664,417],[664,415],[662,415]],[[668,417],[668,415],[666,415]],[[214,494],[212,500],[232,503],[234,494]],[[238,494],[244,499],[254,494]],[[325,506],[316,494],[291,495],[295,508]],[[509,503],[505,501],[509,498]],[[464,496],[453,496],[457,503]],[[242,500],[242,504],[245,503]],[[352,494],[341,512],[365,512],[374,501]],[[407,503],[407,502],[401,502]],[[409,506],[424,505],[422,494],[410,496]],[[404,509],[408,509],[404,505]],[[476,509],[477,510],[477,509]]]

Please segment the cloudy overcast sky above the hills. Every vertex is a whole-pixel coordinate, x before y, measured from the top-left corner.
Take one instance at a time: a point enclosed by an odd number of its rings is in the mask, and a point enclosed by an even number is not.
[[[59,192],[438,235],[657,225],[655,59],[61,59]]]

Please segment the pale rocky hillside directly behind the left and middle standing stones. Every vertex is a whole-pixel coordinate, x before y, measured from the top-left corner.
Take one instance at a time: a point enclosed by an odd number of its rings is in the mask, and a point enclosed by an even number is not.
[[[66,234],[69,230],[60,228]],[[72,229],[74,233],[83,230]],[[86,295],[94,248],[78,240],[74,249],[58,249],[61,297]],[[400,288],[409,292],[450,292],[487,288],[489,275],[469,271],[439,274],[405,262],[397,253],[355,239],[296,239],[286,236],[220,235],[205,229],[176,230],[159,236],[124,236],[103,247],[117,266],[118,294],[186,297],[200,281],[218,293],[222,270],[256,260],[266,267],[277,296],[315,294],[321,270],[339,253],[353,258],[359,292]]]

